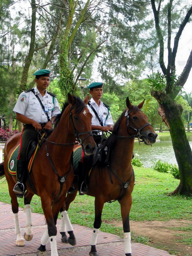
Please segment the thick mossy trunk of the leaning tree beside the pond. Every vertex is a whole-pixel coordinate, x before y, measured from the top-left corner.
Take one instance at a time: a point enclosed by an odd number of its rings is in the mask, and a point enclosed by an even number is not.
[[[171,194],[191,196],[192,151],[181,118],[183,109],[181,105],[171,99],[169,94],[156,91],[153,91],[151,94],[158,101],[161,112],[164,112],[166,122],[169,124],[173,150],[180,171],[180,183]]]

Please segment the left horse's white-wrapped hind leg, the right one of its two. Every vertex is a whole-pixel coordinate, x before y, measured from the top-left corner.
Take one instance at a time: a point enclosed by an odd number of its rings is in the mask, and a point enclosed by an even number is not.
[[[31,219],[31,199],[34,196],[34,193],[26,192],[24,195],[24,205],[25,205],[25,214],[26,214],[26,229],[24,233],[24,239],[26,241],[31,241],[33,238],[32,231],[32,219]]]

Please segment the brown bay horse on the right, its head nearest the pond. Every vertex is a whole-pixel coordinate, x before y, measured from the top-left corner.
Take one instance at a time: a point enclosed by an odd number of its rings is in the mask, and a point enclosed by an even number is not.
[[[101,165],[100,163],[92,167],[88,184],[88,195],[95,197],[95,221],[89,253],[91,256],[98,255],[96,242],[101,227],[104,203],[112,202],[112,200],[118,200],[120,204],[124,230],[124,252],[125,255],[131,256],[129,213],[135,180],[131,164],[134,139],[138,138],[140,141],[144,141],[145,144],[152,145],[157,137],[153,127],[148,123],[147,116],[141,111],[144,101],[136,107],[131,104],[127,97],[127,109],[121,114],[113,127],[112,134],[102,145],[103,149],[110,148],[109,162],[107,165]],[[75,196],[76,193],[67,195],[65,200],[66,210],[68,210]],[[64,219],[61,218],[61,221],[64,222]],[[61,226],[64,226],[64,224],[61,223]],[[61,240],[65,242],[65,230],[60,229],[60,231],[62,234]]]

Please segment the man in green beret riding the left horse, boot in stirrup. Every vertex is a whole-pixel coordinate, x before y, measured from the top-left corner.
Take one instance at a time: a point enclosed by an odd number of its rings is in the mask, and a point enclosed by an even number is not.
[[[31,141],[37,141],[39,130],[52,129],[56,115],[61,112],[56,95],[46,90],[50,84],[50,71],[38,70],[33,75],[36,87],[22,92],[13,109],[16,119],[24,124],[17,159],[17,183],[13,189],[20,198],[25,192],[29,145]]]

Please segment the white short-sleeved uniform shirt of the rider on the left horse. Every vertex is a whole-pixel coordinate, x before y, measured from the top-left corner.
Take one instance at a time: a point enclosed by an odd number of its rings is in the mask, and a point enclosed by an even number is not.
[[[48,94],[47,91],[45,92],[45,95],[42,97],[37,87],[35,87],[34,89],[35,94],[33,92],[22,92],[19,95],[19,98],[15,104],[13,111],[24,116],[27,116],[38,123],[47,123],[47,116],[35,95],[38,95],[44,106],[48,106],[48,115],[50,119],[51,117],[54,117],[57,114],[60,114],[61,112],[58,100],[56,97]]]

